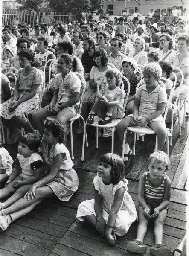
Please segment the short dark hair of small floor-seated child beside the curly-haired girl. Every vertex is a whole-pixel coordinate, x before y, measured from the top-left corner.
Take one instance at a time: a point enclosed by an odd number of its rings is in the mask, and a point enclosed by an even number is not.
[[[20,138],[20,142],[27,145],[29,149],[38,152],[41,143],[40,137],[36,133],[27,133]]]

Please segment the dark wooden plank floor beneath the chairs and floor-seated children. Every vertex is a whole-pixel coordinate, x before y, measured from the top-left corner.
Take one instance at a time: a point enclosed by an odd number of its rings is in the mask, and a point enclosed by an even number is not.
[[[183,108],[180,111],[183,122]],[[183,123],[182,123],[183,125]],[[77,122],[74,129],[77,128]],[[88,129],[89,148],[85,148],[84,162],[81,162],[82,135],[74,133],[74,168],[79,176],[79,189],[69,202],[47,200],[23,218],[18,219],[0,234],[0,256],[133,256],[126,250],[128,239],[134,239],[137,232],[137,222],[131,225],[128,233],[117,239],[116,246],[107,244],[104,237],[87,224],[76,220],[78,205],[93,198],[93,178],[101,154],[110,152],[111,140],[99,139],[99,149],[95,149],[94,129]],[[133,135],[129,138],[131,142]],[[141,138],[140,138],[141,140]],[[128,192],[138,208],[138,180],[147,171],[147,159],[154,150],[154,136],[145,136],[145,141],[137,142],[136,155],[131,166],[125,170],[129,179]],[[69,138],[68,148],[70,149]],[[5,146],[6,147],[6,146]],[[6,147],[16,156],[16,145]],[[166,148],[163,148],[166,152]],[[115,133],[114,151],[121,154],[121,145]],[[174,250],[186,231],[186,198],[189,189],[188,172],[188,120],[186,128],[182,128],[182,136],[178,134],[178,121],[174,122],[173,146],[169,147],[170,167],[168,176],[172,180],[172,196],[169,213],[164,225],[164,243]],[[149,248],[154,244],[153,222],[148,225],[144,239],[148,250],[142,255],[150,256]]]

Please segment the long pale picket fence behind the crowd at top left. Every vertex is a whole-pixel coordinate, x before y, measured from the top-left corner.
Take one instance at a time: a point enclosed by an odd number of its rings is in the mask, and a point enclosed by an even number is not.
[[[76,20],[76,15],[71,12],[35,12],[35,11],[19,11],[17,9],[5,10],[2,13],[2,23],[4,25],[17,25],[18,23],[52,23],[58,21]]]

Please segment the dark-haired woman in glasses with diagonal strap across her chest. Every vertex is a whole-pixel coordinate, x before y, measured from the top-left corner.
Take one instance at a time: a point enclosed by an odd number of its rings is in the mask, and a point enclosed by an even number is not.
[[[176,51],[173,50],[173,40],[169,34],[160,35],[160,49],[157,51],[161,61],[169,62],[173,64],[173,58]]]

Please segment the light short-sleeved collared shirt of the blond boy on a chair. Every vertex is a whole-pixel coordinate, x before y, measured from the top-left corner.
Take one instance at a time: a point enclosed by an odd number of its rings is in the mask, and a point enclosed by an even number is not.
[[[139,116],[147,117],[158,110],[158,104],[167,103],[166,90],[160,85],[151,92],[148,93],[146,85],[142,85],[138,88],[135,97],[140,99]]]

